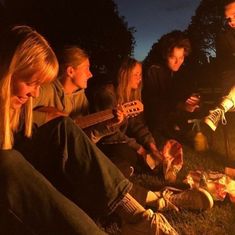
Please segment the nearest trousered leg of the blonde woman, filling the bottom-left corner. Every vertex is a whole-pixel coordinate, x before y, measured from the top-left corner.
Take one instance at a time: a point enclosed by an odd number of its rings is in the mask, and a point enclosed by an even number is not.
[[[15,150],[0,150],[0,188],[1,218],[31,234],[105,234]],[[1,221],[0,234],[9,234],[7,222]]]

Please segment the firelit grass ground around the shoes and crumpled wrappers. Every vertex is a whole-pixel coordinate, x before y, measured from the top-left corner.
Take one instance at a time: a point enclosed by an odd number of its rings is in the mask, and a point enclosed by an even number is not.
[[[181,185],[190,170],[224,171],[225,147],[223,133],[218,131],[213,134],[213,147],[205,153],[197,153],[192,148],[184,146],[184,166],[178,175],[176,185]],[[220,140],[220,141],[219,141]],[[215,151],[216,150],[216,151]],[[220,150],[220,151],[218,151]],[[132,178],[151,190],[158,190],[164,183],[162,180],[150,175],[136,175]],[[228,199],[223,202],[215,201],[212,209],[205,212],[193,212],[181,210],[180,212],[163,212],[170,224],[181,235],[234,235],[235,234],[235,205]],[[120,234],[118,218],[109,220],[106,224],[106,232],[112,235]],[[131,235],[131,234],[130,234]]]

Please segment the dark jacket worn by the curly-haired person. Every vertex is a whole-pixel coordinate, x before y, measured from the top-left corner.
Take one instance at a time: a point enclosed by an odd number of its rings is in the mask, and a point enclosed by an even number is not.
[[[164,128],[169,115],[192,93],[188,80],[177,73],[164,65],[152,65],[144,74],[142,97],[147,125],[151,129]]]

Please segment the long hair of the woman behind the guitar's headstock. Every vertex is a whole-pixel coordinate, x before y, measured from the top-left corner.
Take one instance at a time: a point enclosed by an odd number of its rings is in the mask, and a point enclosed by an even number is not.
[[[127,58],[118,71],[117,103],[123,104],[132,100],[141,100],[142,83],[137,89],[130,87],[130,78],[135,66],[141,62],[133,58]]]

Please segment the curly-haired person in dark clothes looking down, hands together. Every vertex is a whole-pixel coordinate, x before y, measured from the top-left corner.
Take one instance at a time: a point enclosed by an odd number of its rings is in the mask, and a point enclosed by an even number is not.
[[[187,121],[199,108],[200,97],[194,94],[192,81],[180,71],[190,51],[189,39],[175,30],[163,35],[152,46],[143,63],[142,97],[146,123],[163,143],[169,138],[180,142],[187,140]]]

